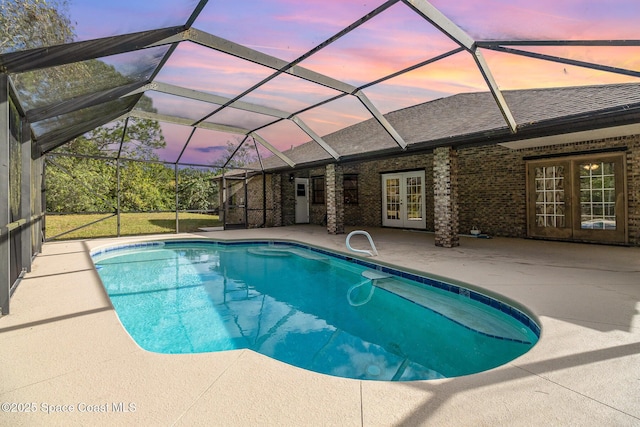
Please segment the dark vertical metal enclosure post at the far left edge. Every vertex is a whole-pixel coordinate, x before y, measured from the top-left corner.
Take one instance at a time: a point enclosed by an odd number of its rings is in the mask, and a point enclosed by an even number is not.
[[[0,314],[9,314],[9,76],[0,73]]]

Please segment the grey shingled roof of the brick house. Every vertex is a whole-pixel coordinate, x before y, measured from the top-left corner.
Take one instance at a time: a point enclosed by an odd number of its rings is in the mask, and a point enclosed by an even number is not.
[[[640,84],[614,84],[503,91],[518,124],[513,134],[489,92],[462,93],[385,115],[407,143],[407,151],[443,145],[495,144],[552,133],[618,125],[640,114]],[[370,119],[323,138],[341,159],[357,160],[402,152],[387,132]],[[298,166],[335,161],[309,141],[284,152]],[[288,167],[277,157],[265,170]]]

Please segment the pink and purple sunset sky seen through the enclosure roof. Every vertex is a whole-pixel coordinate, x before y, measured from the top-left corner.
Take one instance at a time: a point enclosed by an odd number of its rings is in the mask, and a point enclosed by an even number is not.
[[[183,24],[196,3],[194,0],[182,4],[175,0],[76,0],[70,12],[72,20],[78,23],[78,38],[90,39]],[[210,1],[194,28],[290,61],[382,3],[382,0]],[[640,2],[637,0],[432,0],[432,4],[477,40],[640,39],[637,25]],[[448,37],[399,2],[300,65],[357,87],[455,47],[457,45]],[[640,70],[640,48],[529,49]],[[499,87],[504,90],[637,81],[520,56],[491,51],[483,51],[483,54]],[[263,66],[183,42],[156,80],[234,97],[271,73],[272,70]],[[364,92],[380,111],[387,113],[443,96],[486,90],[471,56],[462,52]],[[242,100],[293,113],[336,94],[338,92],[332,89],[283,75]],[[154,106],[164,114],[197,118],[217,108],[168,95],[152,96]],[[316,133],[325,135],[369,118],[363,110],[354,98],[349,97],[305,112],[301,118]],[[243,124],[255,127],[260,123],[255,117],[247,115],[243,119],[236,113],[227,114],[224,122],[240,127]],[[180,147],[184,133],[167,127],[165,137],[171,147]],[[226,143],[225,137],[201,135],[201,131],[196,133],[193,153],[220,153],[220,147]],[[309,140],[304,133],[300,135],[295,125],[284,126],[282,123],[260,133],[281,149]],[[167,150],[168,158],[175,154],[175,148]],[[196,154],[189,156],[198,157]]]

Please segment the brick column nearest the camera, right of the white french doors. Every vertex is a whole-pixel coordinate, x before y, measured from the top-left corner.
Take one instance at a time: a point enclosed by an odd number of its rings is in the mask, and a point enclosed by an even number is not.
[[[436,246],[452,248],[458,238],[458,162],[451,147],[433,150],[433,202]]]

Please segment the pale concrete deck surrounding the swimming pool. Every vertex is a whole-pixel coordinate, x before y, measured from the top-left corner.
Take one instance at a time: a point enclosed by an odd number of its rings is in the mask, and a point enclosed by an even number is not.
[[[523,304],[540,341],[490,371],[405,383],[320,375],[250,350],[154,354],[122,328],[91,249],[201,236],[346,252],[346,235],[295,226],[46,243],[0,318],[0,425],[640,425],[640,248],[461,237],[445,249],[429,233],[366,230],[375,261]]]

